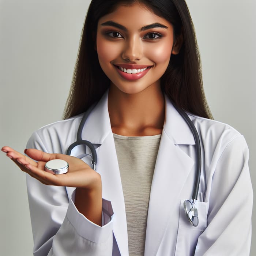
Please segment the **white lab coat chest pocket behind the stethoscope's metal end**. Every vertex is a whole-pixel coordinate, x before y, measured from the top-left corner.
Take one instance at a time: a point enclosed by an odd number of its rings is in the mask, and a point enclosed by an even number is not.
[[[192,256],[195,253],[198,237],[203,233],[207,226],[208,202],[196,202],[198,212],[198,226],[194,227],[185,214],[184,200],[180,202],[180,217],[176,241],[176,256]]]

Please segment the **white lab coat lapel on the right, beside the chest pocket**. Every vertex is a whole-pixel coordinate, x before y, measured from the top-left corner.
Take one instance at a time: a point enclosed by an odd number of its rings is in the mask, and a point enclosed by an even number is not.
[[[194,164],[177,144],[193,145],[195,141],[183,118],[166,98],[166,118],[148,206],[145,255],[157,255],[168,225],[174,230],[174,237],[168,240],[175,245],[179,217],[173,212],[176,211],[174,206],[180,206],[179,194]]]

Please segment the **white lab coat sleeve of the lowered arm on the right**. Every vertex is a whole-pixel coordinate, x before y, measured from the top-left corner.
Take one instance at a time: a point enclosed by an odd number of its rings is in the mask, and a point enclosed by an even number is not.
[[[253,193],[244,137],[236,136],[219,154],[213,157],[214,174],[207,185],[207,228],[198,239],[195,256],[248,256]]]

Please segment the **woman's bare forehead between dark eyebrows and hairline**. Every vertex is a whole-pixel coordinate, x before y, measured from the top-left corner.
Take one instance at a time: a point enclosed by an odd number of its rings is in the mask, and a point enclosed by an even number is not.
[[[139,3],[118,5],[113,12],[99,19],[98,26],[109,20],[134,29],[153,23],[161,23],[167,27],[172,26],[166,19],[156,15],[149,7]]]

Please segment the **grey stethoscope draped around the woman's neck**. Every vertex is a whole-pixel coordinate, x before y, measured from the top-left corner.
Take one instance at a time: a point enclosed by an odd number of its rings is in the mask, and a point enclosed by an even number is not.
[[[201,176],[201,146],[200,146],[200,140],[199,140],[199,135],[196,131],[195,125],[190,120],[190,118],[185,113],[185,111],[178,108],[173,101],[172,101],[172,103],[173,103],[174,108],[176,108],[178,113],[180,113],[180,115],[184,118],[184,120],[188,124],[189,128],[191,129],[191,132],[193,133],[195,143],[196,143],[196,178],[195,178],[195,184],[194,184],[194,188],[193,188],[192,199],[191,200],[185,200],[184,203],[183,203],[184,210],[185,210],[185,213],[186,213],[186,215],[189,219],[189,222],[193,226],[196,227],[199,223],[198,222],[198,213],[197,213],[197,208],[196,208],[196,200],[197,200],[197,195],[198,195],[198,191],[199,191],[199,183],[200,183],[200,176]],[[79,145],[88,146],[91,150],[91,157],[92,157],[91,165],[92,165],[92,168],[94,170],[96,170],[96,165],[97,165],[97,153],[96,153],[96,150],[95,150],[95,148],[94,148],[94,146],[91,142],[89,142],[88,140],[83,140],[82,139],[82,130],[83,130],[84,124],[87,120],[87,117],[89,116],[89,114],[91,113],[91,111],[93,110],[95,105],[96,105],[96,103],[94,105],[92,105],[86,111],[84,116],[82,117],[82,120],[81,120],[79,128],[78,128],[78,132],[77,132],[76,142],[72,143],[68,147],[68,150],[67,150],[67,155],[71,155],[71,151],[74,147],[79,146]]]

